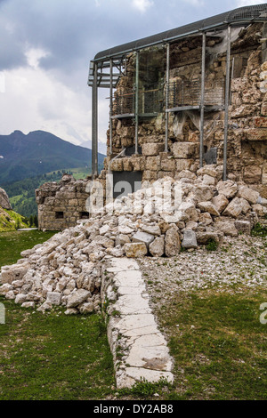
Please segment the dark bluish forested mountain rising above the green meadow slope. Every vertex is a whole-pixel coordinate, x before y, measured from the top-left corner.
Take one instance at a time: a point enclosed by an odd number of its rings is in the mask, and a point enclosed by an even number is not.
[[[52,133],[15,131],[0,135],[0,186],[66,167],[85,167],[91,173],[91,149],[63,141]],[[100,169],[104,155],[99,154]]]

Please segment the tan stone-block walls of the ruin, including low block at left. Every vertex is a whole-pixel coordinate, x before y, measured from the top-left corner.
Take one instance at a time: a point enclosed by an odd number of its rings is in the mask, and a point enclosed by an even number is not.
[[[228,179],[247,184],[261,197],[267,198],[267,61],[266,24],[255,23],[247,28],[233,28],[231,42],[231,106],[227,149]],[[201,79],[201,36],[171,44],[170,85],[184,86],[184,105],[199,104]],[[116,98],[128,98],[134,92],[135,55],[129,54],[125,75],[117,84]],[[155,100],[166,100],[166,51],[151,48],[141,52],[140,89],[154,88],[162,92]],[[204,119],[205,164],[223,165],[224,84],[226,76],[226,31],[206,36],[206,113]],[[196,90],[197,88],[197,90]],[[128,101],[127,101],[128,103]],[[132,103],[133,104],[133,103]],[[151,104],[151,103],[150,103]],[[214,108],[215,106],[215,108]],[[129,110],[130,111],[130,110]],[[158,110],[157,110],[158,111]],[[131,111],[130,111],[131,113]],[[133,117],[112,120],[112,153],[98,176],[105,197],[107,174],[121,173],[120,179],[134,180],[134,172],[142,174],[142,182],[157,181],[168,176],[174,180],[180,173],[196,174],[199,169],[200,111],[183,110],[169,113],[168,152],[165,152],[166,116],[164,106],[157,117],[140,117],[138,145],[134,152]],[[39,228],[61,230],[75,226],[87,217],[85,181],[64,176],[60,184],[46,183],[36,190]],[[134,189],[132,190],[134,191]]]

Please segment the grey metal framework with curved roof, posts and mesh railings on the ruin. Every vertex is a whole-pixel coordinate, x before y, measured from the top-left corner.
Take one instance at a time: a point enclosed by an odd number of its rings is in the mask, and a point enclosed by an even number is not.
[[[98,175],[98,88],[109,88],[109,123],[115,117],[133,117],[135,121],[135,153],[138,154],[138,126],[142,116],[155,116],[164,111],[163,102],[157,99],[160,92],[141,91],[139,89],[140,52],[144,48],[155,45],[166,46],[166,144],[168,151],[168,119],[169,113],[186,109],[198,109],[200,111],[200,167],[204,158],[204,116],[206,110],[225,109],[224,119],[224,142],[223,142],[223,179],[227,178],[227,142],[228,142],[228,109],[230,104],[231,83],[231,28],[246,27],[253,22],[266,22],[267,4],[240,7],[216,15],[205,20],[198,20],[190,25],[174,28],[158,35],[148,36],[137,41],[122,44],[109,50],[99,52],[90,62],[88,85],[92,87],[92,170],[93,177]],[[205,89],[206,75],[206,35],[216,33],[218,30],[227,29],[227,59],[226,77],[223,86],[217,86],[213,92]],[[170,76],[170,44],[189,36],[202,36],[202,59],[201,59],[201,83],[174,85],[169,83]],[[113,95],[117,82],[125,74],[126,57],[130,52],[135,57],[135,85],[134,92]],[[162,95],[163,97],[163,95]],[[148,99],[149,98],[149,99]],[[154,104],[151,101],[154,100]],[[143,103],[143,106],[142,106]],[[146,105],[147,103],[147,105]],[[150,104],[148,104],[150,103]],[[150,109],[151,111],[148,111]],[[112,129],[109,129],[109,152],[112,154]]]

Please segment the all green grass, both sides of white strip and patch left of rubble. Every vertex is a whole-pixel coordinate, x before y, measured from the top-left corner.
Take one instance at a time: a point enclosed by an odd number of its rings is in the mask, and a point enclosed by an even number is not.
[[[53,235],[0,234],[0,267]],[[0,399],[266,399],[266,326],[259,306],[266,288],[180,293],[158,312],[174,357],[172,388],[116,390],[101,318],[30,314],[0,297]],[[177,326],[179,325],[179,326]],[[154,393],[159,397],[153,397]]]

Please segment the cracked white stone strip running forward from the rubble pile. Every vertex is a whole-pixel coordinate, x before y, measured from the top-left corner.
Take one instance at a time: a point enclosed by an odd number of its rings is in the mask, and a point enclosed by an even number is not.
[[[102,301],[109,301],[108,336],[117,388],[131,387],[141,380],[173,382],[173,361],[150,309],[138,263],[110,257],[102,277]]]

